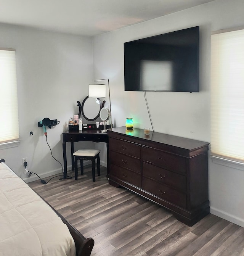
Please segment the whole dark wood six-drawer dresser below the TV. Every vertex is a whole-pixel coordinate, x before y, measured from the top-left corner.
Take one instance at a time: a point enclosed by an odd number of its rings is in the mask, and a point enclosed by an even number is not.
[[[144,130],[108,130],[109,184],[122,186],[194,225],[209,213],[208,142]]]

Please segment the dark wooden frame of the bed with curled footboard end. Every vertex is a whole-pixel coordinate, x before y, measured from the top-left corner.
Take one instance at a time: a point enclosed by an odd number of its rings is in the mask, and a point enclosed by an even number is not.
[[[0,159],[0,163],[5,163],[5,160]],[[10,169],[10,167],[8,167],[8,168]],[[42,196],[40,196],[40,198],[42,198]],[[71,233],[71,235],[74,239],[74,242],[75,242],[76,256],[90,256],[91,252],[92,252],[92,249],[93,249],[93,246],[94,246],[94,240],[92,238],[85,238],[61,214],[59,214],[44,198],[42,198],[42,200],[45,201],[45,203],[47,203],[51,207],[51,209],[53,209],[53,211],[55,211],[55,213],[61,218],[61,220],[64,222],[64,224],[67,225],[67,227],[69,229],[69,232]]]

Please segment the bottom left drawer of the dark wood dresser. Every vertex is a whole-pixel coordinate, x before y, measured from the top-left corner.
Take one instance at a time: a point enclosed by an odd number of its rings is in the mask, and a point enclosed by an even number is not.
[[[109,171],[109,177],[116,177],[122,181],[128,182],[136,187],[141,188],[141,175],[130,171],[128,169],[124,169],[122,167],[111,164]]]

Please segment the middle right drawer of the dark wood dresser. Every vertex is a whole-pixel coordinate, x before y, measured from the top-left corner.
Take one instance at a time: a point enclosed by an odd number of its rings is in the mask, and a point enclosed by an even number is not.
[[[186,177],[181,174],[143,163],[143,176],[186,192]]]

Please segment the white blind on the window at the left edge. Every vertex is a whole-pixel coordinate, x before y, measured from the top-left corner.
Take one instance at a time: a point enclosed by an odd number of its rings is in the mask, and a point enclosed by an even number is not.
[[[15,50],[0,48],[0,145],[19,140]]]

